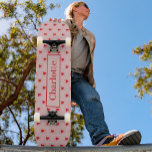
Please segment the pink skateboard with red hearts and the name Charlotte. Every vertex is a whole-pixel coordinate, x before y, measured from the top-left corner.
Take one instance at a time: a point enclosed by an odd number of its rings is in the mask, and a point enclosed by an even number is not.
[[[39,146],[64,147],[71,130],[71,34],[52,19],[38,30],[34,134]]]

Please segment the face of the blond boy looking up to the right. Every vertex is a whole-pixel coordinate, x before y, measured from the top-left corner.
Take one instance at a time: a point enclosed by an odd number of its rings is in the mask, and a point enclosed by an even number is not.
[[[84,20],[86,20],[90,14],[90,9],[86,4],[81,4],[78,7],[74,7],[73,10],[77,12],[79,15],[84,17]]]

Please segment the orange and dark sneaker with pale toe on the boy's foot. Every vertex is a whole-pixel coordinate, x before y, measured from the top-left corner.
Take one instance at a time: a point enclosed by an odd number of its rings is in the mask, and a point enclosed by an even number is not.
[[[96,146],[139,145],[140,141],[141,133],[138,130],[131,130],[120,135],[106,136]]]

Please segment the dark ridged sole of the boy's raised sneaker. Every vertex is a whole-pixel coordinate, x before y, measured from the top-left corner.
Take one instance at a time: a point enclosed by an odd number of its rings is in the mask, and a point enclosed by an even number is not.
[[[139,145],[141,141],[141,133],[132,130],[124,134],[118,145]]]

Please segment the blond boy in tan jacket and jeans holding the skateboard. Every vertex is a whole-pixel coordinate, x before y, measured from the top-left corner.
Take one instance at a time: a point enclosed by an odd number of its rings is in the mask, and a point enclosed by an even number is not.
[[[86,129],[96,146],[140,144],[141,134],[132,130],[120,135],[111,135],[104,119],[100,96],[95,89],[93,55],[95,37],[83,26],[90,9],[83,1],[74,2],[65,11],[65,23],[72,37],[71,98],[83,113]]]

